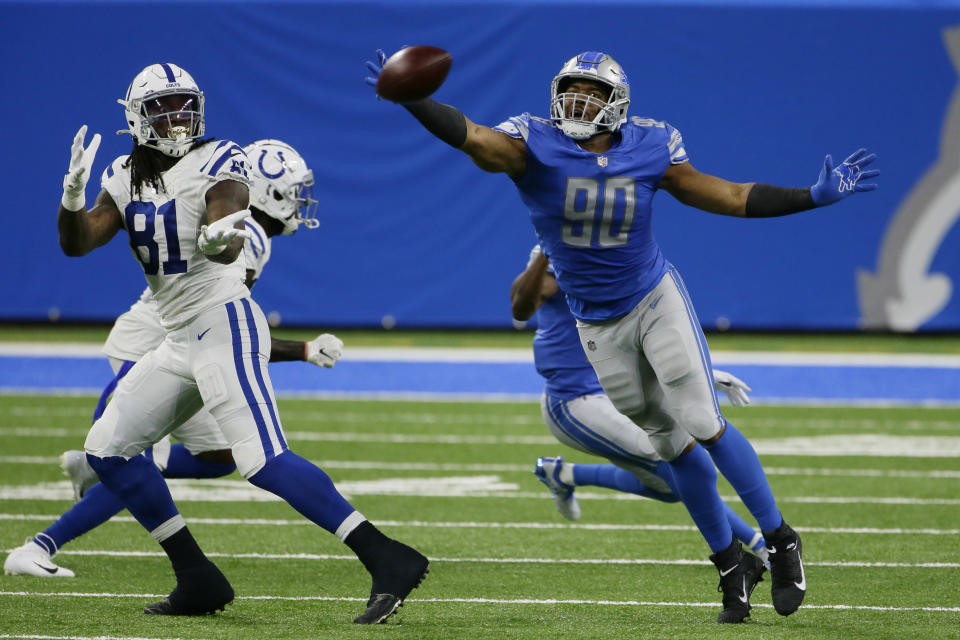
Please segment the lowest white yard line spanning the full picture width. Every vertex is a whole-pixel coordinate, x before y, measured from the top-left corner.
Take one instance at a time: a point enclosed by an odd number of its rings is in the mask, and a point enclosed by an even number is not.
[[[352,558],[352,556],[351,556]],[[355,558],[353,558],[355,560]],[[163,598],[166,594],[158,593],[80,593],[59,591],[41,593],[31,591],[0,591],[0,596],[33,597],[33,598]],[[366,602],[367,598],[351,596],[237,596],[237,600],[282,600],[304,602]],[[644,600],[585,600],[562,598],[411,598],[411,602],[430,602],[435,604],[516,604],[516,605],[557,605],[579,604],[602,607],[691,607],[716,608],[716,602],[648,602]],[[754,607],[772,609],[771,604],[754,604]],[[804,609],[819,609],[825,611],[925,611],[930,613],[955,613],[960,607],[880,607],[874,605],[851,604],[806,604]],[[0,636],[3,637],[33,637],[33,636]],[[73,638],[74,636],[63,636]]]

